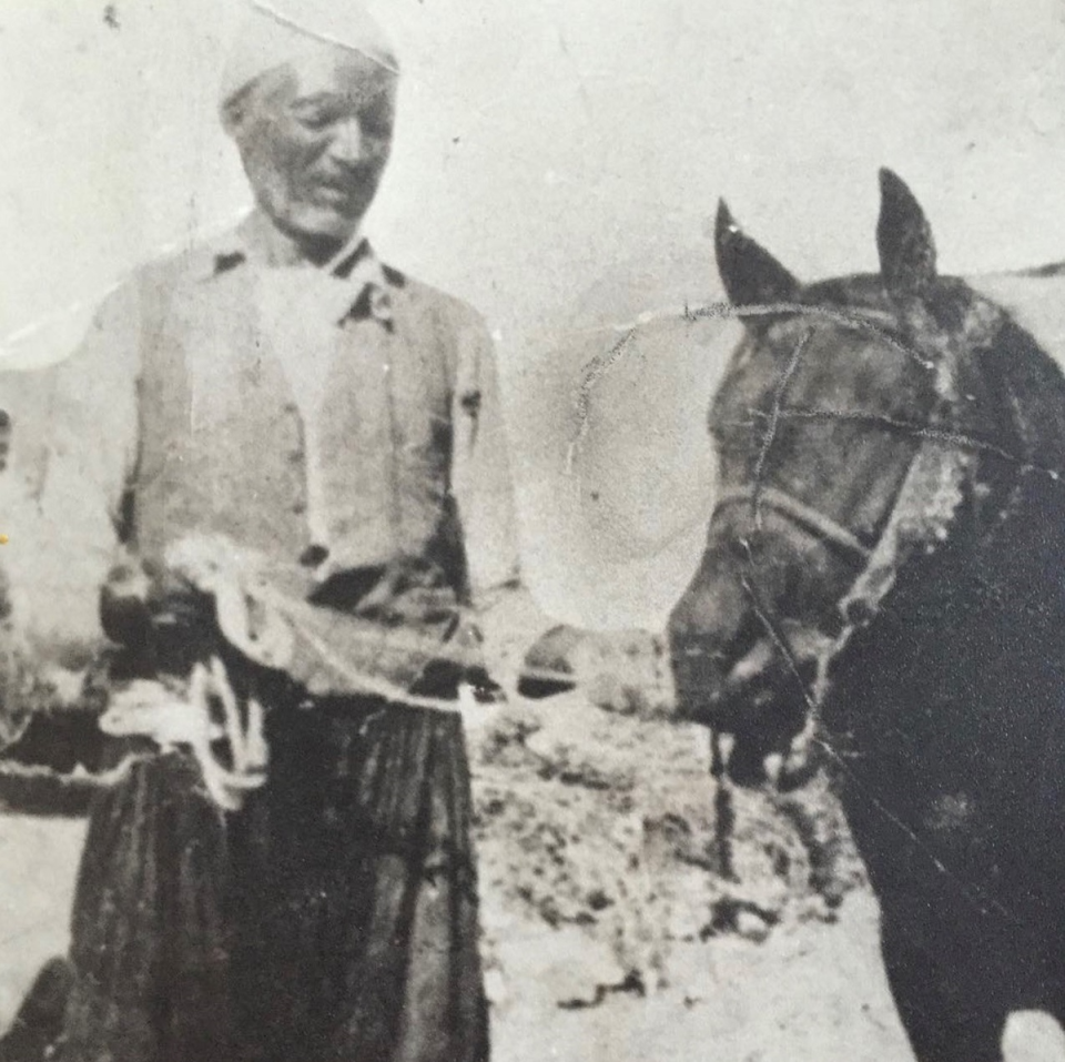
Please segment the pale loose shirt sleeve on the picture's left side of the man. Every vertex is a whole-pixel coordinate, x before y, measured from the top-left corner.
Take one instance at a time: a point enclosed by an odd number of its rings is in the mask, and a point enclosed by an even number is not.
[[[45,657],[102,639],[99,589],[120,549],[136,454],[140,300],[112,294],[81,345],[43,368],[0,372],[10,453],[0,471],[0,564],[11,623]]]

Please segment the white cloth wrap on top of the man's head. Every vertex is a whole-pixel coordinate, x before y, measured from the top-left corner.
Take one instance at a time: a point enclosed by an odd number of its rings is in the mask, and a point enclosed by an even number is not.
[[[222,75],[222,102],[323,45],[359,52],[399,72],[392,42],[361,0],[252,0]]]

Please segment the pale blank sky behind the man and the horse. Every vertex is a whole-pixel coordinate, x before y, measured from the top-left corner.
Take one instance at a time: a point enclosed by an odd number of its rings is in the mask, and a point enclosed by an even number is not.
[[[247,204],[215,121],[235,2],[111,7],[116,27],[103,0],[0,0],[0,335],[44,323],[22,357],[60,356],[67,307]],[[405,77],[368,231],[496,332],[530,578],[565,618],[659,621],[694,564],[727,330],[650,330],[564,459],[609,325],[717,294],[719,195],[811,279],[875,267],[882,164],[945,271],[1065,259],[1065,0],[375,10]]]

